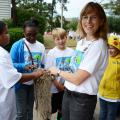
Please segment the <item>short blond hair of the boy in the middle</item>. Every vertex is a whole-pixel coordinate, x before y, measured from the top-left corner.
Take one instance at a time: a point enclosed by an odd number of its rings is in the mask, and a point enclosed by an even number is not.
[[[53,39],[55,38],[64,38],[65,36],[67,37],[67,32],[63,28],[55,28],[52,30],[52,36]]]

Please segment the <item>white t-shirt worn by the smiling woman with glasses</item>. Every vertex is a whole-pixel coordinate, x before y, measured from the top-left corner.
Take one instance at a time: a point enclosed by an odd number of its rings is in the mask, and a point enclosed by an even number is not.
[[[78,42],[75,52],[70,63],[72,71],[85,70],[91,76],[78,86],[68,81],[65,81],[65,86],[71,91],[96,95],[108,61],[107,45],[103,39],[96,41],[82,39]]]

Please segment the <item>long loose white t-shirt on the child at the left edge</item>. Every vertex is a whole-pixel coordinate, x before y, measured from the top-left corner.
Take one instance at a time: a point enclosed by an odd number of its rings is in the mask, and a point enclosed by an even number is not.
[[[13,67],[9,53],[0,47],[0,120],[15,120],[14,85],[22,74]]]

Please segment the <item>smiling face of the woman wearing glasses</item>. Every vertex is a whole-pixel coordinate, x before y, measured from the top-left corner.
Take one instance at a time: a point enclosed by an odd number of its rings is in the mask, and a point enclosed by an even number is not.
[[[96,12],[92,11],[82,16],[82,27],[87,36],[95,36],[101,21]]]

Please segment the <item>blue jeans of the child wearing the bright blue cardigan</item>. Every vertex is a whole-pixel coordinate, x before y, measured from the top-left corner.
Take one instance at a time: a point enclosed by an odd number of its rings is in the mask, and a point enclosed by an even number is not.
[[[15,91],[17,118],[16,120],[33,120],[34,85],[21,85]]]

